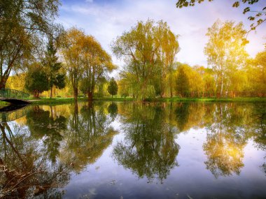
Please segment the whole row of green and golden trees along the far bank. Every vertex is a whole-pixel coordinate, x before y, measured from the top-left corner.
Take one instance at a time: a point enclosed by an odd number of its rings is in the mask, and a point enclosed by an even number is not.
[[[242,23],[217,20],[209,27],[206,34],[209,40],[204,48],[208,67],[204,68],[177,61],[179,36],[167,22],[137,22],[111,43],[113,53],[123,59],[125,66],[118,80],[110,81],[109,73],[117,66],[101,44],[83,30],[72,27],[64,31],[53,23],[57,1],[49,1],[48,8],[32,7],[35,17],[43,21],[35,22],[36,18],[27,16],[27,22],[32,23],[29,28],[24,24],[25,10],[20,7],[27,6],[27,1],[22,1],[22,5],[11,0],[10,3],[18,7],[18,13],[8,13],[12,9],[3,3],[1,23],[3,27],[13,23],[13,28],[22,32],[10,33],[18,38],[16,46],[1,27],[0,89],[8,84],[10,88],[27,89],[34,97],[50,91],[46,93],[50,98],[64,94],[74,96],[75,101],[82,93],[89,100],[95,95],[109,94],[141,100],[172,96],[265,96],[266,49],[254,59],[248,56],[247,31]],[[186,1],[183,3],[188,6]],[[8,18],[11,15],[13,20]],[[25,35],[27,38],[22,38]],[[11,71],[20,76],[13,75],[8,80]]]

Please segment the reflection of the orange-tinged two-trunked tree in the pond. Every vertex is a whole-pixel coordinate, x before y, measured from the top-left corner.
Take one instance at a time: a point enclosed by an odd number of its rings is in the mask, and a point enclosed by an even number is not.
[[[106,114],[104,104],[87,103],[80,110],[74,108],[63,150],[64,156],[68,157],[65,161],[78,162],[76,171],[82,170],[88,163],[94,163],[111,145],[117,133],[110,126],[111,117]]]

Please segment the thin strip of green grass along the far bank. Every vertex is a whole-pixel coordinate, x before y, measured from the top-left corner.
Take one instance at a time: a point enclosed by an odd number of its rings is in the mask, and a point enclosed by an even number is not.
[[[78,101],[87,101],[87,98],[78,98]],[[94,101],[117,101],[117,102],[245,102],[245,103],[266,103],[266,98],[152,98],[145,101],[138,101],[135,98],[94,98]],[[40,98],[30,99],[34,105],[50,105],[73,103],[73,98]]]

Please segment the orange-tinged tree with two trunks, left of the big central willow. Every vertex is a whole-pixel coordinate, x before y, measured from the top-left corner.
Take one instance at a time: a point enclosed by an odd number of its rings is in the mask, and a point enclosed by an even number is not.
[[[87,36],[79,29],[71,28],[62,38],[61,54],[64,66],[71,80],[74,98],[78,98],[78,85],[82,80],[83,91],[92,100],[97,82],[116,69],[111,56],[93,36]]]

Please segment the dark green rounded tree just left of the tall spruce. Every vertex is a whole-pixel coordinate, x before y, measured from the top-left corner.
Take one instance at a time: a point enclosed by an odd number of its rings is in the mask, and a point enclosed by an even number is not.
[[[34,94],[35,98],[38,98],[39,94],[49,89],[48,75],[43,70],[41,63],[35,62],[31,64],[25,79],[26,89]]]

